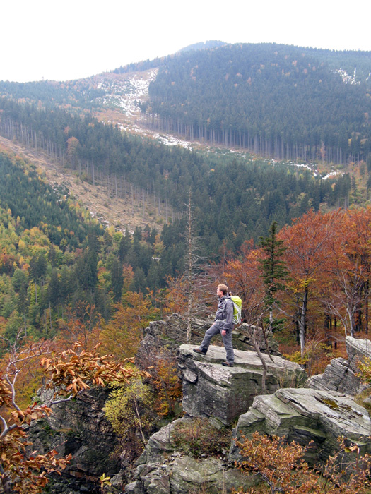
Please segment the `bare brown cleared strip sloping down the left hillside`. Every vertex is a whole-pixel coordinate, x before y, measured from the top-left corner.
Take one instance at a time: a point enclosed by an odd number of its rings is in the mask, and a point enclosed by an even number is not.
[[[131,193],[122,193],[122,197],[119,197],[106,184],[96,181],[97,183],[93,185],[83,181],[76,172],[62,167],[61,163],[42,150],[36,151],[1,136],[0,147],[42,169],[52,186],[57,183],[68,188],[71,197],[81,201],[82,205],[90,211],[90,215],[96,217],[105,226],[114,226],[120,231],[124,231],[127,227],[129,231],[134,231],[137,226],[143,229],[148,225],[151,229],[160,231],[166,218],[169,219],[174,215],[169,207],[166,213],[162,204],[159,210],[158,201],[138,188],[131,188]]]

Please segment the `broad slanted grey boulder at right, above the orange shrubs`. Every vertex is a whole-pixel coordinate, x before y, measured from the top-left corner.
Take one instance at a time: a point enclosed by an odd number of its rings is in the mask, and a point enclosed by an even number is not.
[[[326,461],[338,450],[337,438],[344,436],[371,452],[371,421],[367,410],[346,394],[310,389],[281,389],[256,397],[249,411],[240,416],[232,434],[230,460],[241,459],[236,441],[258,431],[285,437],[308,448],[305,461],[314,465]]]

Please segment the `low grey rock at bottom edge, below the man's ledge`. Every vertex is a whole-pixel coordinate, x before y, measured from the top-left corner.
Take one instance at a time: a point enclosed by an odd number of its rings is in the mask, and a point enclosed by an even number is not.
[[[221,459],[194,459],[175,451],[171,432],[179,421],[191,419],[180,418],[148,440],[137,462],[136,480],[125,486],[126,494],[220,494],[257,485],[257,478],[242,475],[238,469]]]

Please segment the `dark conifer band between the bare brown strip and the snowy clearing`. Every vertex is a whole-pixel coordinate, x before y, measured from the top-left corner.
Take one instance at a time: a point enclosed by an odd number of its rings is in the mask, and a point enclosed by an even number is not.
[[[165,210],[172,205],[177,212],[174,220],[182,218],[191,187],[194,220],[210,258],[218,256],[223,242],[235,250],[246,239],[258,239],[273,220],[283,225],[310,207],[318,210],[321,203],[326,207],[348,203],[351,191],[348,175],[323,180],[284,164],[169,148],[60,109],[37,109],[3,99],[0,110],[4,137],[41,147],[90,183],[100,176],[114,183],[116,190],[135,184],[143,198],[151,193]],[[167,246],[179,248],[182,222],[167,230],[172,232]],[[167,271],[175,274],[173,269]]]

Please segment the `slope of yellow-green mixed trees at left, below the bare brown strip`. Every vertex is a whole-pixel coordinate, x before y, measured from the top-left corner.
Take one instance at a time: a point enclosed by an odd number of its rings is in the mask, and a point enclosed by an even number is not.
[[[112,317],[123,294],[144,300],[164,286],[171,263],[165,252],[155,258],[164,251],[157,231],[105,229],[20,157],[0,153],[0,171],[1,335],[12,340],[23,328],[51,338],[64,334],[63,320],[91,328],[99,315]]]

